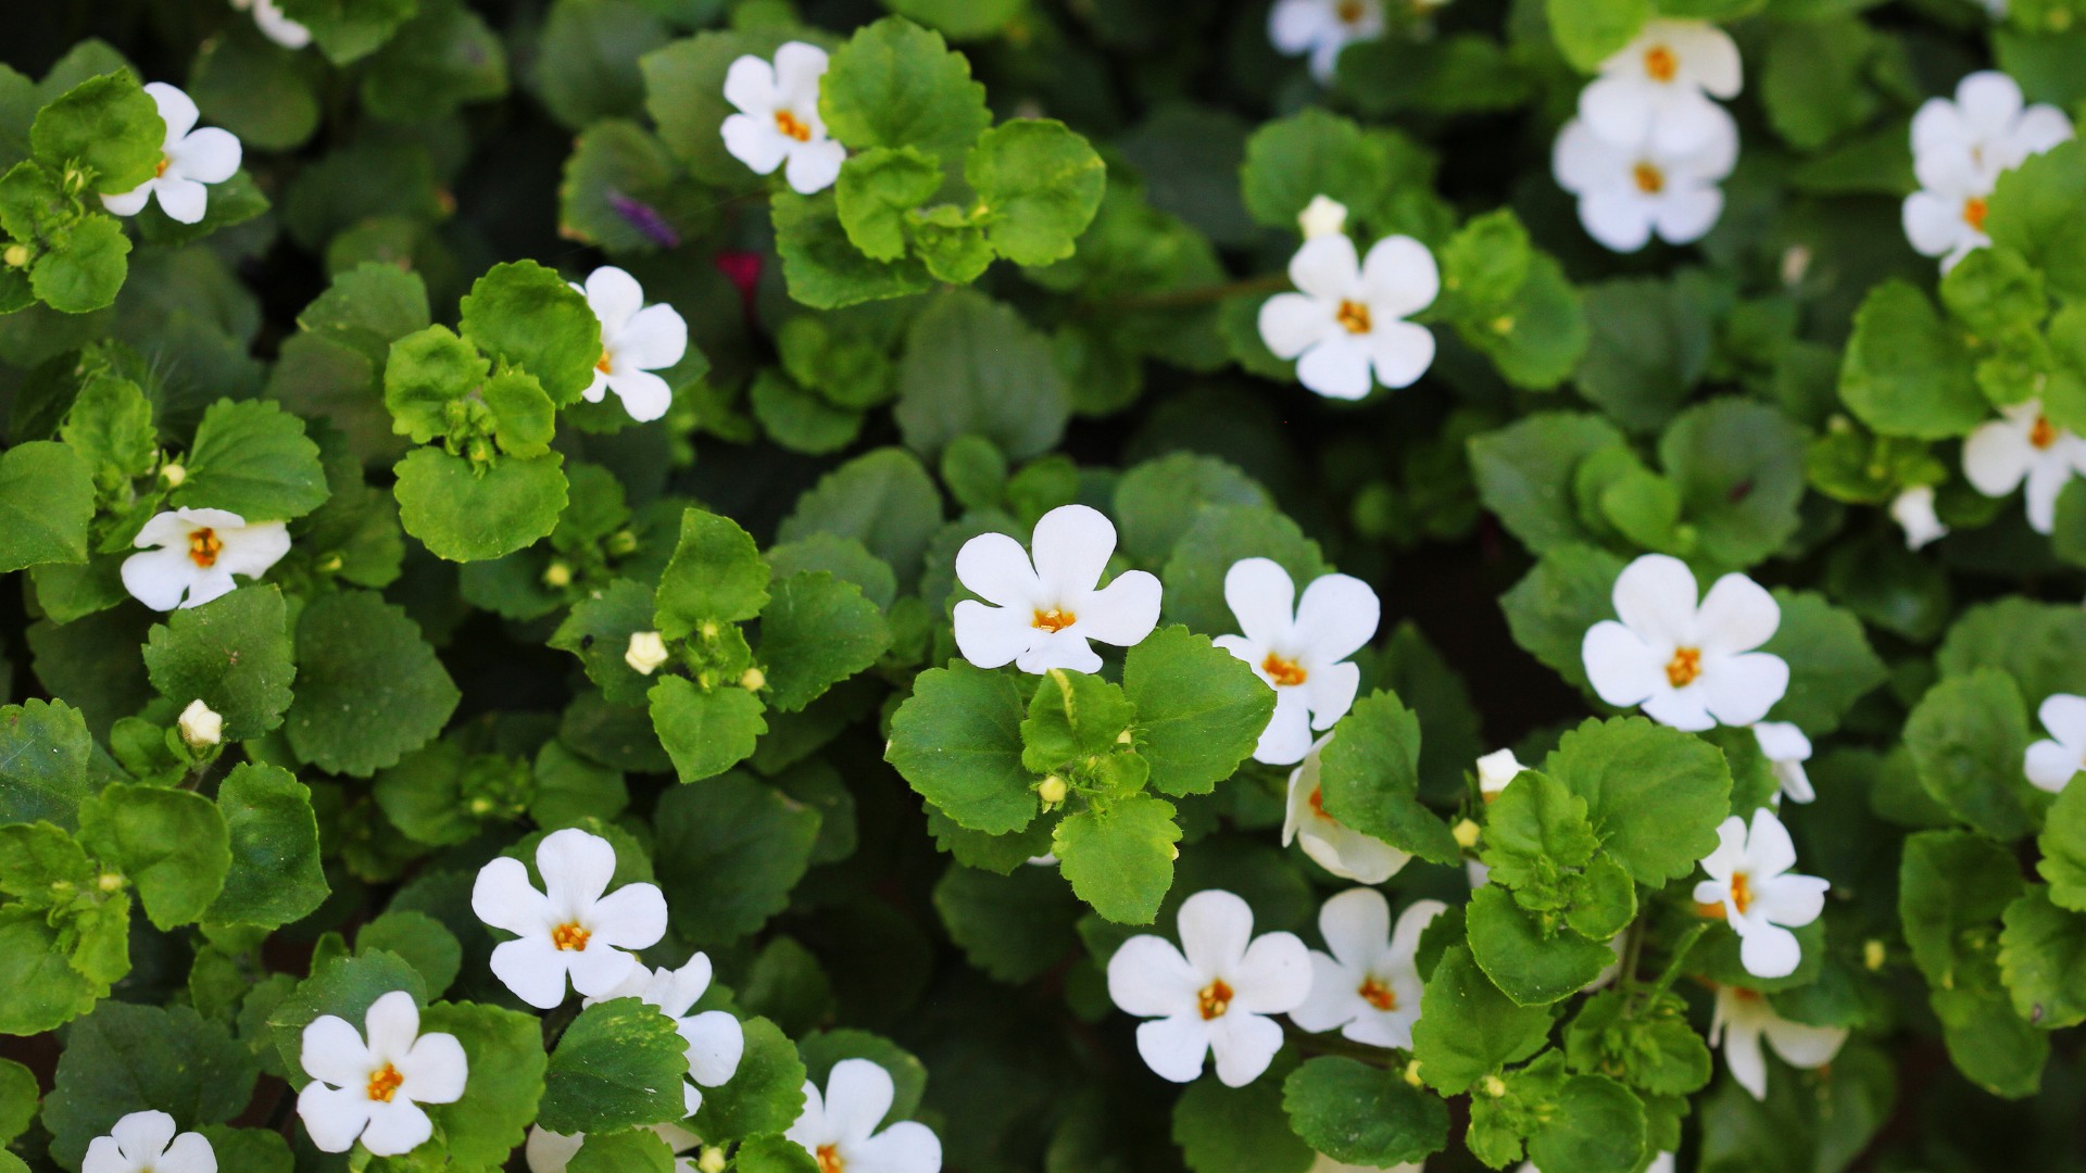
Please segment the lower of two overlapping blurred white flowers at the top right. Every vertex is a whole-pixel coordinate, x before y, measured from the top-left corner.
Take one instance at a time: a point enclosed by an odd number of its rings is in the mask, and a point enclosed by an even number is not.
[[[1579,196],[1585,234],[1617,253],[1635,253],[1658,232],[1667,244],[1700,240],[1723,215],[1717,184],[1738,163],[1738,123],[1708,104],[1711,127],[1685,148],[1658,142],[1615,144],[1583,119],[1564,123],[1550,171]]]

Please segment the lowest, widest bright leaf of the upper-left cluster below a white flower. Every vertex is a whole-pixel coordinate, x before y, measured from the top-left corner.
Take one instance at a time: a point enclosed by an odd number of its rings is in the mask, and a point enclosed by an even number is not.
[[[557,528],[563,463],[563,453],[549,453],[474,465],[442,449],[413,449],[396,463],[398,522],[448,561],[509,555]]]

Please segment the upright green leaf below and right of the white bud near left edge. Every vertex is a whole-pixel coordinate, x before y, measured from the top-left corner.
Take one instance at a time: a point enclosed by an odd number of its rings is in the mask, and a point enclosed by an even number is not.
[[[242,762],[217,787],[217,812],[229,831],[232,870],[207,920],[277,929],[325,902],[319,822],[305,783],[280,766]]]

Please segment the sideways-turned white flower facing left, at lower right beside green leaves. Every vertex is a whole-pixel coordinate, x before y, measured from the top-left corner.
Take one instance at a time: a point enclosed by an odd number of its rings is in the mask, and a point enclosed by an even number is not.
[[[1788,977],[1802,960],[1802,945],[1790,929],[1802,929],[1825,910],[1829,883],[1819,877],[1788,875],[1796,866],[1790,833],[1765,806],[1746,820],[1731,816],[1717,829],[1717,849],[1702,860],[1706,881],[1694,889],[1696,904],[1723,906],[1723,918],[1738,933],[1738,960],[1752,977]]]

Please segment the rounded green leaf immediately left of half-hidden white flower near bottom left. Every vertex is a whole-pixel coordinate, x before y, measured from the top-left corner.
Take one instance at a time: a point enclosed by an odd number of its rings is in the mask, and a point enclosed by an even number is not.
[[[686,1046],[674,1019],[636,998],[580,1010],[544,1069],[538,1123],[576,1133],[678,1121]]]

